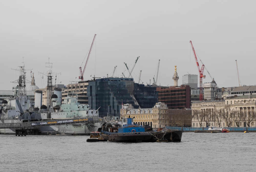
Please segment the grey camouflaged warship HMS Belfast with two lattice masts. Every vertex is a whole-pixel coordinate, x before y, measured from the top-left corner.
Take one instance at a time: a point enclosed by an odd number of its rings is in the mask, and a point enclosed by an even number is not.
[[[20,77],[14,96],[3,100],[0,113],[0,124],[24,123],[24,122],[47,122],[50,120],[71,121],[77,118],[91,117],[91,123],[46,125],[35,127],[38,134],[72,134],[87,135],[96,131],[100,126],[98,110],[91,110],[91,106],[79,104],[76,95],[68,95],[61,104],[61,89],[55,88],[52,94],[52,63],[47,63],[47,101],[42,105],[42,92],[35,91],[35,106],[31,107],[31,101],[26,95],[26,72],[24,65],[20,67]],[[40,107],[40,108],[39,108]],[[15,134],[15,128],[1,128],[0,134]]]

